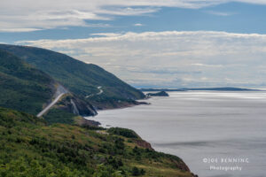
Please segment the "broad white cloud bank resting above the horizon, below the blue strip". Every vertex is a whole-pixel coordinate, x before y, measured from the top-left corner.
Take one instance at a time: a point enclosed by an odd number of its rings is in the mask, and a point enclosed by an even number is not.
[[[136,86],[260,86],[266,35],[213,31],[95,34],[85,39],[18,42],[65,52]],[[203,79],[207,78],[207,79]]]

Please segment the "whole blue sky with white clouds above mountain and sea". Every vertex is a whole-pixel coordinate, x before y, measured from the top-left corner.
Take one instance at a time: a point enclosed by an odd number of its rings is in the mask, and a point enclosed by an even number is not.
[[[0,42],[137,88],[266,88],[266,0],[1,0]]]

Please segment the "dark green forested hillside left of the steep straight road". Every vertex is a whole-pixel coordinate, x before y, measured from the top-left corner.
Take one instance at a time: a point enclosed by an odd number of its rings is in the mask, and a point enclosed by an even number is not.
[[[47,74],[0,50],[0,106],[36,114],[52,95]]]

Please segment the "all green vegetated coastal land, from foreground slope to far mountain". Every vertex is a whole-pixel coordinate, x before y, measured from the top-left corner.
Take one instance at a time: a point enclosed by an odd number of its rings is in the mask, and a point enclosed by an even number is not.
[[[1,177],[193,176],[180,158],[154,151],[134,131],[97,127],[95,121],[68,113],[95,115],[90,103],[98,108],[134,104],[142,92],[97,65],[63,54],[0,48],[14,54],[0,50],[0,106],[7,107],[0,107]],[[59,83],[71,93],[44,119],[31,115],[51,100]]]

